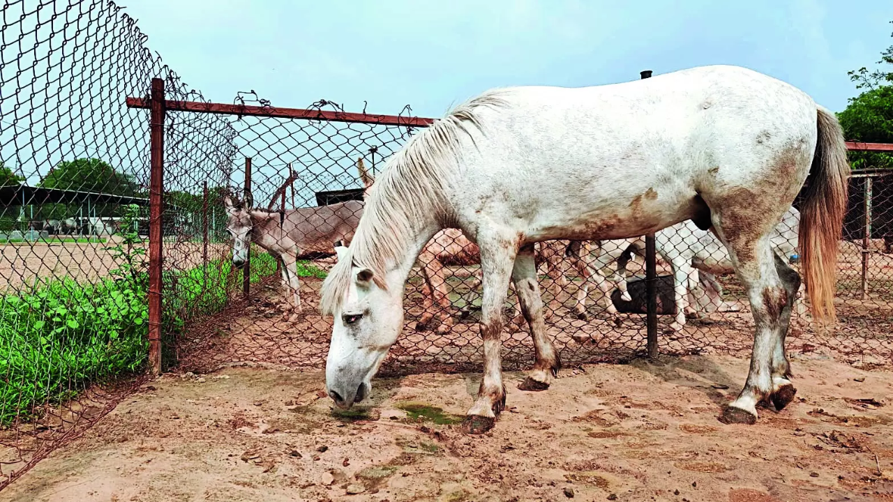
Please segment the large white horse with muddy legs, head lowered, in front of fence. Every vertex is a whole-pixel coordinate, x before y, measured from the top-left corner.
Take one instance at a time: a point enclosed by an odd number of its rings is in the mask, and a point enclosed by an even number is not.
[[[363,400],[400,334],[404,289],[421,248],[458,228],[480,247],[484,374],[463,431],[505,406],[500,348],[509,281],[536,352],[527,378],[559,368],[546,334],[533,244],[646,235],[685,220],[729,249],[755,319],[747,382],[722,413],[755,423],[756,405],[789,404],[784,354],[800,278],[769,235],[804,194],[800,247],[814,320],[835,321],[847,148],[833,113],[797,88],[708,66],[590,88],[488,91],[421,130],[388,159],[349,247],[338,247],[321,310],[333,314],[326,385],[340,407]]]

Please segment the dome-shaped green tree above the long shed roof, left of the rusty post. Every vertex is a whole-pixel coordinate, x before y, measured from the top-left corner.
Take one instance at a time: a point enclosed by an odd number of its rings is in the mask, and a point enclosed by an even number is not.
[[[99,159],[77,159],[56,164],[39,187],[96,192],[133,197],[139,185],[129,174],[118,172]]]

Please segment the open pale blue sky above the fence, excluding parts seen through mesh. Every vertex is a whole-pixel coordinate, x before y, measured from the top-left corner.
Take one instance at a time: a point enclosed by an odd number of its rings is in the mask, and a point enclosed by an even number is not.
[[[326,98],[442,115],[487,88],[588,86],[692,66],[763,71],[840,111],[893,43],[890,0],[127,0],[147,46],[213,101]],[[847,8],[841,8],[848,4]]]

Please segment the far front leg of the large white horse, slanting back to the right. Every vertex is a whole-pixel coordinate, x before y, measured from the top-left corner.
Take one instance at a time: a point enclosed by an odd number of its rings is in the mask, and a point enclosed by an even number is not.
[[[536,352],[533,370],[521,382],[518,389],[545,390],[549,388],[552,377],[557,376],[558,370],[561,368],[561,361],[558,358],[558,353],[555,352],[552,341],[546,334],[543,300],[539,295],[539,281],[537,280],[532,245],[524,246],[518,251],[518,255],[514,259],[512,280],[518,294],[518,303],[521,304],[521,312],[530,328],[533,349]]]

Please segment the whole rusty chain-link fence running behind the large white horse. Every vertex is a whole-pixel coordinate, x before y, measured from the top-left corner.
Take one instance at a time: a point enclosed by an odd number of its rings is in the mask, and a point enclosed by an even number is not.
[[[113,409],[146,369],[321,368],[331,321],[317,306],[333,245],[349,243],[365,190],[430,120],[330,101],[282,109],[253,93],[208,103],[111,2],[7,2],[3,16],[0,489]],[[817,330],[799,297],[790,351],[893,359],[891,180],[855,172],[839,326]],[[796,208],[772,237],[794,268]],[[646,352],[645,241],[538,243],[564,364]],[[682,222],[655,234],[655,252],[658,351],[747,356],[747,298],[713,234]],[[432,238],[382,373],[480,367],[479,259],[459,230]],[[526,368],[533,347],[513,294],[505,313],[505,368]]]

